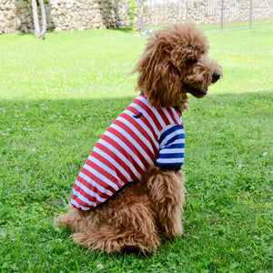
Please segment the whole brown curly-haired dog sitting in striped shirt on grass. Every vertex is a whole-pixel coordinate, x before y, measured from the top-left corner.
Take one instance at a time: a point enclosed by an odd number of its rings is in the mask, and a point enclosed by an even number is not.
[[[108,253],[154,252],[161,237],[183,231],[184,126],[187,93],[203,97],[222,76],[207,56],[207,39],[193,25],[174,25],[149,38],[136,96],[101,136],[56,222],[76,243]]]

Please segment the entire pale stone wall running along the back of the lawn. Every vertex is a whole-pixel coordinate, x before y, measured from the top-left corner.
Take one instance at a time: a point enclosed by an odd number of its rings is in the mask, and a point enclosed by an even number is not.
[[[138,0],[139,3],[143,3]],[[252,21],[273,19],[273,0],[252,0]],[[147,0],[136,13],[138,29],[177,22],[248,22],[250,0]],[[47,30],[130,26],[128,0],[46,0]],[[31,0],[0,0],[0,34],[34,32]]]

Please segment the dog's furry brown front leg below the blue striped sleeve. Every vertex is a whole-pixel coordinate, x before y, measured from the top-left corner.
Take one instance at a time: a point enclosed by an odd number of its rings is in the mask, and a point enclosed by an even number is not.
[[[157,214],[157,226],[167,238],[183,232],[184,182],[182,170],[163,171],[159,167],[150,167],[147,172],[147,189]]]

